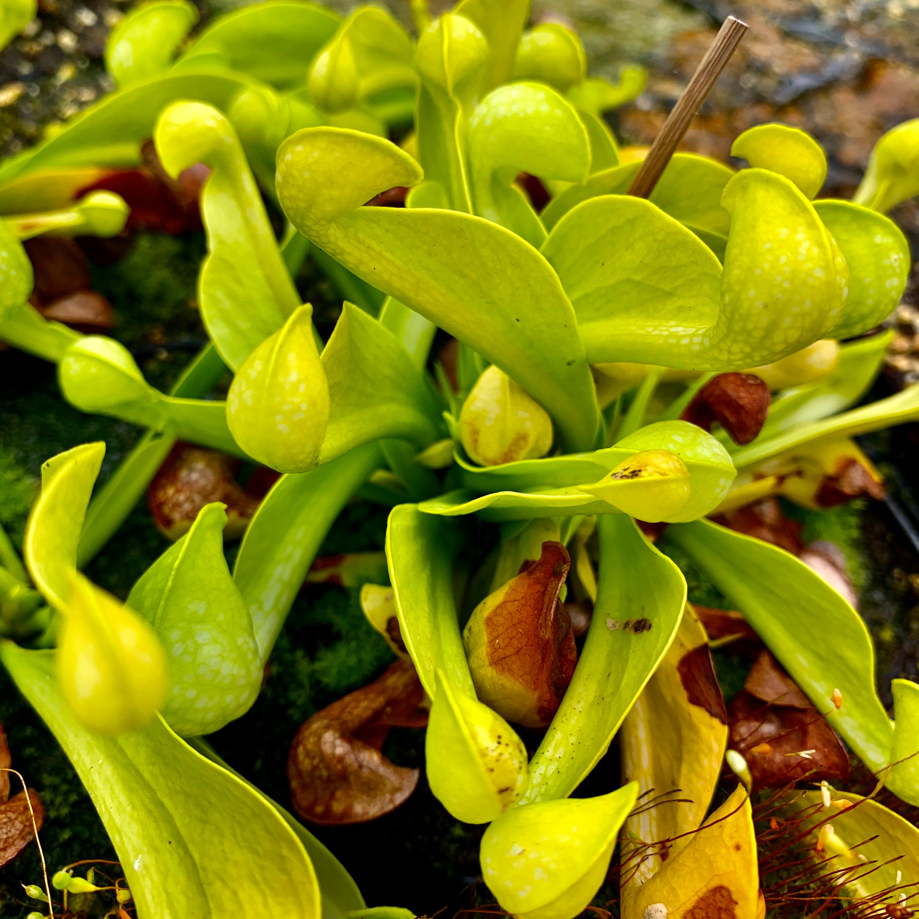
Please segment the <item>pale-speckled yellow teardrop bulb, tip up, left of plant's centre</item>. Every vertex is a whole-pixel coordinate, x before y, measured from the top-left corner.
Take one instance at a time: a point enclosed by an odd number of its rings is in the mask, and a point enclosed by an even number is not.
[[[227,425],[249,456],[279,472],[305,472],[319,459],[329,422],[329,384],[312,337],[312,307],[245,359],[227,393]]]

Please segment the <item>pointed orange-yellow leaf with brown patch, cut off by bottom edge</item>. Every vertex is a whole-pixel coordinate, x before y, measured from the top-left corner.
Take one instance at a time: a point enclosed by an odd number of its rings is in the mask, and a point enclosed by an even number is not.
[[[652,879],[641,887],[626,886],[622,893],[622,919],[641,919],[645,910],[657,903],[664,904],[666,913],[662,914],[667,919],[753,917],[759,875],[746,789],[738,786]]]

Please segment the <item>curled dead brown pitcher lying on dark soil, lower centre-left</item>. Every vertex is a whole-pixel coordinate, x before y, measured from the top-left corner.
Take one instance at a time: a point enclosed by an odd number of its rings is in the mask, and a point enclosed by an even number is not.
[[[363,823],[402,804],[419,770],[393,765],[380,748],[391,727],[425,726],[424,698],[414,666],[397,661],[306,720],[288,758],[294,810],[312,823]]]

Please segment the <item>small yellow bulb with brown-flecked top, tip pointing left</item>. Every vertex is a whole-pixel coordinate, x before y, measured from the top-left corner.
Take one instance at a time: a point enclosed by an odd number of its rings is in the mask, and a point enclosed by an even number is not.
[[[578,485],[607,504],[649,523],[679,513],[689,500],[689,470],[670,450],[642,450],[593,485]]]

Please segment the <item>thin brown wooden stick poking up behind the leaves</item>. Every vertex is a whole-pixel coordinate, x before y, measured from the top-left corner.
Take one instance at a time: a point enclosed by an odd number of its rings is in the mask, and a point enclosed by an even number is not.
[[[692,75],[683,95],[676,100],[673,111],[664,121],[664,127],[654,138],[651,150],[641,164],[638,175],[632,180],[629,194],[636,198],[647,198],[657,180],[664,172],[670,157],[674,155],[679,142],[683,140],[689,124],[696,117],[709,90],[715,84],[724,66],[731,60],[734,51],[740,44],[746,30],[750,28],[740,19],[732,16],[724,20],[718,35],[699,62],[696,73]]]

